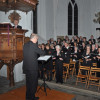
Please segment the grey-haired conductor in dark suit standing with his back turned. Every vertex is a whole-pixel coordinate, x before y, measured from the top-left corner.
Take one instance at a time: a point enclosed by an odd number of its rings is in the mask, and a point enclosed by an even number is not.
[[[35,93],[38,85],[38,54],[45,52],[38,48],[38,36],[31,34],[30,41],[23,47],[23,73],[26,74],[26,100],[38,100]]]

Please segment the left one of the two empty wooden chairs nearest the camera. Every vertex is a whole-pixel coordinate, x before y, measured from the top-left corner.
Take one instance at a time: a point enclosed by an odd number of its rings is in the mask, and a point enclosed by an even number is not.
[[[85,74],[83,73],[85,72]],[[87,86],[88,77],[89,77],[90,67],[88,66],[79,66],[79,71],[76,79],[76,85],[78,82],[85,83],[85,87]]]

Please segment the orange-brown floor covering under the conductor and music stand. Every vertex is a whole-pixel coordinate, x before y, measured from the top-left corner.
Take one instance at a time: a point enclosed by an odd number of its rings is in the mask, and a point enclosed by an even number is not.
[[[25,100],[25,91],[25,86],[17,88],[10,92],[1,94],[0,100]],[[72,94],[49,89],[47,89],[47,96],[42,90],[39,90],[39,92],[36,93],[36,96],[40,97],[39,100],[72,100],[75,97],[75,95]]]

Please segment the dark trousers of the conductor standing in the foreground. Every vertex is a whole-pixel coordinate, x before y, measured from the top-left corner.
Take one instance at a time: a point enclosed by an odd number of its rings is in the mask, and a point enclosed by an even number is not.
[[[26,100],[34,100],[38,86],[38,71],[26,74]]]

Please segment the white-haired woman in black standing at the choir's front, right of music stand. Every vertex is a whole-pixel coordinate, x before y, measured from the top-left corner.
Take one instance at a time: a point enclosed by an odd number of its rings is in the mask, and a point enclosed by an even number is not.
[[[54,53],[55,66],[56,66],[56,83],[63,83],[63,53],[61,47],[56,46],[56,52]]]

